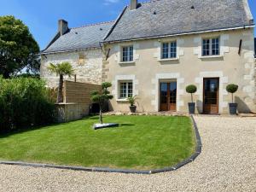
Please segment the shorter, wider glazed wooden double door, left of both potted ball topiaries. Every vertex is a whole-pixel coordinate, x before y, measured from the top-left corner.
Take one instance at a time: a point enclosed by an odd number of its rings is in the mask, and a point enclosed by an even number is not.
[[[176,111],[177,83],[160,83],[160,111]]]

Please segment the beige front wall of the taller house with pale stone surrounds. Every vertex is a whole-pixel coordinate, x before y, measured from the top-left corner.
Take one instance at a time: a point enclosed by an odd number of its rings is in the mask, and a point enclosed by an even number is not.
[[[220,38],[220,55],[202,57],[201,39],[212,37]],[[166,41],[177,41],[175,60],[160,60],[160,46]],[[133,95],[138,97],[137,111],[157,112],[160,110],[160,82],[175,80],[177,112],[188,112],[190,96],[185,87],[195,84],[198,88],[195,93],[197,113],[202,113],[203,79],[218,78],[218,113],[229,111],[231,96],[225,90],[227,84],[239,85],[235,94],[238,112],[256,113],[253,44],[253,28],[105,44],[104,49],[110,49],[110,53],[108,60],[103,61],[102,80],[113,83],[111,108],[114,111],[129,111],[129,103],[119,100],[118,81],[130,80],[133,82]],[[133,45],[134,61],[123,63],[120,61],[120,47],[128,45]]]

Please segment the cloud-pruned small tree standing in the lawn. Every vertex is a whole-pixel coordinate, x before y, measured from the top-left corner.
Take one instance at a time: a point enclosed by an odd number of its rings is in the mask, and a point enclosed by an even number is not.
[[[111,86],[112,86],[111,83],[108,83],[108,82],[102,83],[101,91],[94,90],[91,93],[91,101],[98,103],[100,106],[100,123],[101,124],[103,123],[102,108],[103,108],[104,102],[107,102],[108,100],[113,99],[113,96],[110,95],[110,92],[108,91],[108,88]]]

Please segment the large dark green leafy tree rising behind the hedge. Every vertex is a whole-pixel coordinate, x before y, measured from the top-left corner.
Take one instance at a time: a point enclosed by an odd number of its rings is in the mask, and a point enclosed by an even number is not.
[[[38,73],[38,43],[27,26],[14,16],[0,16],[0,74],[9,78],[22,69]]]

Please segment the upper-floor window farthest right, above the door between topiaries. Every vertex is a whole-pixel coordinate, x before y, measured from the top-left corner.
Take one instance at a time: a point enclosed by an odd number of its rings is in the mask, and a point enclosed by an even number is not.
[[[204,38],[202,40],[202,55],[219,55],[219,38]]]

